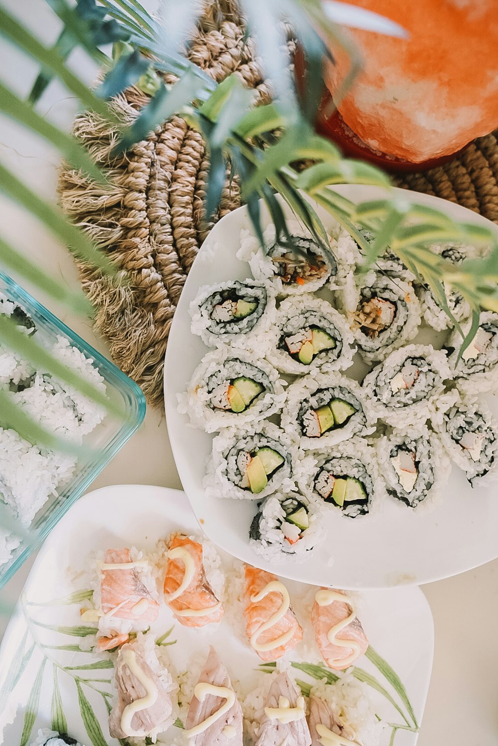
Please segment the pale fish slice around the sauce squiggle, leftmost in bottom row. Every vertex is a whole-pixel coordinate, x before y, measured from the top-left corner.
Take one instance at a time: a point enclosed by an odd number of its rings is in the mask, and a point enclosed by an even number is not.
[[[127,656],[132,656],[133,663],[142,671],[141,677],[133,673]],[[120,648],[115,669],[118,700],[109,715],[109,733],[115,739],[127,736],[150,736],[151,733],[166,730],[171,724],[171,696],[163,680],[145,662],[145,653],[137,640],[127,642]],[[144,700],[147,695],[145,683],[152,687],[154,696],[150,704],[136,709],[131,717],[130,727],[126,723],[126,709],[131,703]],[[136,705],[135,705],[136,706]],[[124,715],[124,718],[123,718]]]

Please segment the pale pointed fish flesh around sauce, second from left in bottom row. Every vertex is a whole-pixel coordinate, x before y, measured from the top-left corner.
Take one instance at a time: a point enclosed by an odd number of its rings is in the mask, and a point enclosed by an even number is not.
[[[209,647],[209,655],[199,676],[198,683],[208,683],[213,686],[224,686],[233,692],[232,683],[227,669],[219,659],[214,648]],[[233,692],[235,695],[235,692]],[[218,712],[226,703],[222,697],[208,694],[199,700],[195,695],[186,716],[185,729],[189,730],[204,723],[207,718]],[[242,707],[235,697],[230,709],[210,724],[202,733],[188,739],[189,746],[242,746]]]

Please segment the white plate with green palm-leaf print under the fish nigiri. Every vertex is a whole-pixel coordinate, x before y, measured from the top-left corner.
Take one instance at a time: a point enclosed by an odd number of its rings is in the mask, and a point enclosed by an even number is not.
[[[60,649],[78,647],[81,642],[79,611],[86,589],[83,576],[69,577],[67,568],[72,572],[83,570],[89,553],[110,547],[135,545],[150,550],[174,530],[198,532],[198,524],[183,492],[163,487],[104,487],[85,495],[62,518],[31,569],[0,648],[1,743],[22,744],[26,722],[28,728],[32,725],[30,743],[37,728],[51,727],[55,713],[61,724],[59,730],[66,724],[69,734],[86,746],[119,746],[107,729],[104,698],[112,702],[112,697],[95,691],[111,691],[108,682],[112,669],[90,668],[101,660],[94,653]],[[227,566],[233,565],[232,557],[220,554]],[[287,586],[294,602],[309,591],[302,583],[291,581]],[[384,690],[382,693],[374,686],[366,687],[376,712],[400,726],[394,746],[414,746],[414,718],[420,725],[432,668],[434,640],[429,604],[420,589],[403,588],[362,593],[358,605],[372,648],[388,662],[391,671],[385,669],[385,677],[372,662],[374,656],[363,656],[356,671],[360,676],[366,671],[366,678],[374,677],[370,681]],[[151,633],[160,636],[173,624],[171,612],[163,606]],[[168,636],[168,641],[177,640],[168,647],[171,660],[177,670],[185,671],[189,656],[207,656],[212,644],[232,679],[239,680],[247,693],[256,685],[259,658],[236,636],[230,621],[221,621],[215,627],[199,634],[174,624]],[[309,656],[314,657],[310,662],[318,662],[318,650],[314,651],[313,645],[311,641]],[[306,674],[300,672],[300,678],[306,679]],[[407,723],[410,730],[406,729]],[[382,746],[391,743],[392,730],[388,727],[382,732]]]

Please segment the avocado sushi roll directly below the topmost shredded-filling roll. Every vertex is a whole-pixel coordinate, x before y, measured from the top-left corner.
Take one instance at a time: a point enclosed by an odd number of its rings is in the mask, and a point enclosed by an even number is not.
[[[314,295],[280,304],[268,360],[282,373],[345,370],[353,363],[354,339],[344,316]]]

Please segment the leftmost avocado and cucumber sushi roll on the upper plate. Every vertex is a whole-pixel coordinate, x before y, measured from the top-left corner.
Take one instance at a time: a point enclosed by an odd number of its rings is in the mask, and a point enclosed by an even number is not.
[[[283,407],[286,394],[280,375],[265,360],[250,351],[218,347],[203,357],[179,400],[179,410],[212,433],[270,417]]]

